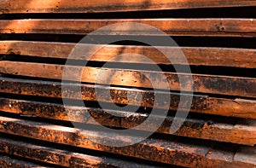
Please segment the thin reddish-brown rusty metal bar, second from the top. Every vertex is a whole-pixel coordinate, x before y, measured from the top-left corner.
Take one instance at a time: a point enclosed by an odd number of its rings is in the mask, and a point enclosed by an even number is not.
[[[252,19],[141,19],[141,20],[0,20],[1,33],[53,33],[85,35],[103,26],[136,22],[154,26],[170,36],[250,37],[256,36]],[[136,33],[135,33],[136,32]],[[160,36],[141,27],[118,26],[97,35]]]

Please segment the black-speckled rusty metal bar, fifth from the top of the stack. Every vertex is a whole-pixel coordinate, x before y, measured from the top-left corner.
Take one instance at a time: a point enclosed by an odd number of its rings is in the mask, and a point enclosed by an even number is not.
[[[65,85],[67,87],[73,86],[71,84]],[[130,100],[129,103],[131,103],[131,105],[134,106],[137,106],[137,104],[141,104],[142,107],[154,107],[154,91],[152,90],[132,90],[116,87],[108,88],[98,85],[82,84],[81,93],[83,100],[97,101],[95,92],[96,88],[97,90],[100,90],[103,93],[101,99],[105,100],[105,102],[113,101],[117,104],[126,105],[128,103],[127,94],[142,94],[142,102],[134,99]],[[61,83],[49,81],[25,80],[18,78],[0,78],[0,92],[9,94],[19,94],[24,96],[44,96],[59,99],[62,98]],[[104,98],[104,95],[108,95],[109,92],[112,95],[112,101],[109,101],[107,98]],[[155,94],[165,94],[165,92],[155,91]],[[180,94],[171,93],[171,103],[168,102],[170,103],[170,110],[177,110],[180,96]],[[66,98],[77,100],[79,97],[81,97],[79,93],[70,93],[69,95],[67,95]],[[166,100],[162,101],[165,102]],[[255,108],[256,102],[251,100],[230,100],[223,98],[194,95],[190,111],[196,113],[209,113],[224,116],[236,116],[241,118],[255,119]]]

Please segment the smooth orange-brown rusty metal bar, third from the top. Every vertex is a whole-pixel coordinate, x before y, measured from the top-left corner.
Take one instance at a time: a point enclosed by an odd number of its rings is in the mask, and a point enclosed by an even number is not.
[[[44,58],[67,59],[71,54],[76,43],[52,43],[52,42],[26,42],[26,41],[1,41],[0,54],[2,55],[26,55],[38,56]],[[245,67],[256,68],[256,49],[227,49],[227,48],[202,48],[202,47],[148,47],[148,46],[122,46],[122,45],[98,45],[98,44],[78,44],[79,48],[84,50],[99,49],[88,60],[88,55],[80,55],[78,60],[86,61],[111,61],[115,63],[142,63],[152,64],[152,62],[139,57],[145,55],[156,64],[164,65],[184,65],[177,54],[179,50],[183,51],[189,65],[195,66],[219,66],[219,67]],[[165,53],[172,55],[172,62],[167,61],[166,56],[157,49],[165,50]],[[129,59],[125,56],[117,55],[133,53]],[[136,55],[137,54],[137,55]]]

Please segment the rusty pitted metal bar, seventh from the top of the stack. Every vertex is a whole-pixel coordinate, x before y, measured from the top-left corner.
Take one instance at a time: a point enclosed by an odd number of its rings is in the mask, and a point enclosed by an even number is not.
[[[183,165],[189,167],[201,166],[201,167],[219,167],[229,163],[230,167],[251,167],[251,162],[236,162],[236,159],[232,158],[232,161],[218,158],[218,162],[207,158],[208,151],[211,148],[218,148],[218,143],[209,142],[191,142],[180,141],[177,137],[169,137],[168,141],[164,139],[148,138],[143,142],[139,142],[135,145],[113,148],[90,142],[88,139],[97,138],[99,141],[114,142],[115,137],[111,133],[95,132],[93,130],[83,130],[83,134],[80,134],[78,130],[58,125],[49,125],[44,123],[36,123],[20,119],[0,118],[0,131],[19,135],[32,137],[48,142],[57,142],[67,145],[72,145],[80,148],[90,148],[98,151],[105,151],[113,154],[122,154],[131,157],[137,157],[141,159],[149,159],[167,164]],[[119,136],[120,140],[131,141],[129,136]],[[226,144],[229,146],[229,144]],[[231,146],[232,147],[232,146]],[[235,145],[235,148],[239,146]],[[253,151],[255,148],[251,147]],[[8,151],[8,148],[5,150]],[[132,152],[131,152],[132,151]],[[236,150],[234,155],[236,154]],[[171,156],[171,157],[170,157]],[[42,155],[45,157],[45,154]],[[215,158],[216,159],[216,158]],[[253,165],[255,166],[255,164]]]

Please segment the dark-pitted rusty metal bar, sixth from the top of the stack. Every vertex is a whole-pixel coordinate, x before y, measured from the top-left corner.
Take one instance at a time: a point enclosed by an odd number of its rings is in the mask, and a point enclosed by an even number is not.
[[[104,111],[98,108],[65,107],[61,104],[45,103],[37,101],[20,101],[0,98],[0,110],[9,113],[19,113],[26,117],[40,117],[46,119],[59,119],[65,121],[95,124],[94,120],[105,126],[131,129],[141,124],[148,118],[148,113],[129,113]],[[123,118],[113,118],[112,113],[119,113]],[[87,115],[86,115],[87,114]],[[89,115],[88,115],[89,114]],[[154,116],[157,121],[160,116]],[[170,134],[173,117],[166,117],[164,123],[157,130],[159,133]],[[241,124],[244,121],[244,124]],[[152,125],[154,121],[152,121]],[[143,127],[143,130],[150,130],[152,125]],[[243,145],[256,144],[256,121],[253,119],[186,119],[183,126],[176,132],[177,136],[188,136],[200,139],[213,140],[218,142],[233,142]]]

